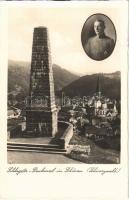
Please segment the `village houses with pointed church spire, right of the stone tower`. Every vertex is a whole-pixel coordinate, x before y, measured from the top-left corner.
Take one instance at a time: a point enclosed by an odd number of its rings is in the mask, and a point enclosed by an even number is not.
[[[93,96],[70,98],[63,93],[61,100],[59,118],[80,134],[95,140],[120,135],[120,102],[102,95],[100,75]]]

